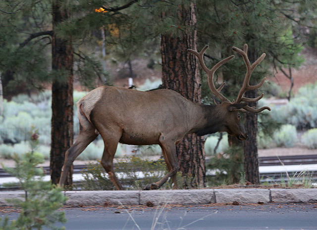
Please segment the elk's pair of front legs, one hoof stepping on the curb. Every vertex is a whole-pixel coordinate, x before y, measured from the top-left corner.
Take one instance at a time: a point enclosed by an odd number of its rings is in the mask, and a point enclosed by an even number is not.
[[[167,137],[161,135],[159,138],[160,147],[162,148],[162,153],[164,156],[164,160],[167,165],[168,173],[163,176],[158,182],[147,184],[144,190],[150,189],[159,189],[169,177],[172,178],[172,182],[174,183],[173,188],[177,188],[177,181],[176,181],[176,173],[178,172],[178,162],[176,158],[176,147],[175,142],[168,140]]]

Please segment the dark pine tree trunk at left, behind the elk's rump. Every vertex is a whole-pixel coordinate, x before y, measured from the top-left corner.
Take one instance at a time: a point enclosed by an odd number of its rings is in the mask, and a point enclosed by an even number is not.
[[[68,12],[61,9],[60,3],[53,0],[53,31],[55,26],[67,19]],[[52,146],[51,179],[59,181],[66,150],[73,143],[73,50],[70,40],[60,39],[53,34],[52,69]],[[72,184],[72,170],[66,185]]]

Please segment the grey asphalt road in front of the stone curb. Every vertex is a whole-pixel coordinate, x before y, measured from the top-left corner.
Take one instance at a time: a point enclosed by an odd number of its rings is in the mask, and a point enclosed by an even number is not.
[[[18,215],[3,210],[0,217]],[[317,204],[91,206],[61,211],[68,219],[66,230],[317,230]]]

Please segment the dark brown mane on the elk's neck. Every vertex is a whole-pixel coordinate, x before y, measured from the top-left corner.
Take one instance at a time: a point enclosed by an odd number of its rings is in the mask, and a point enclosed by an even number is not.
[[[207,134],[223,131],[223,115],[220,113],[218,106],[202,105],[203,124],[196,131],[197,135],[204,136]]]

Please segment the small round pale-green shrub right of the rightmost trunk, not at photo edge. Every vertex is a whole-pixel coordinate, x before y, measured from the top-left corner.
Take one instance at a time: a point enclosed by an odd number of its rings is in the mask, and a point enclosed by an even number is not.
[[[296,127],[291,124],[282,125],[280,130],[274,133],[274,141],[278,147],[293,147],[297,141]]]

